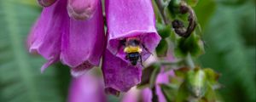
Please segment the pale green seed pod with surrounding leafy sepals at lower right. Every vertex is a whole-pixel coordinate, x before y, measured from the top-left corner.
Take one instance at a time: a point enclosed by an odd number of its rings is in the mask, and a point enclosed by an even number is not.
[[[169,102],[215,102],[219,100],[215,86],[218,85],[218,73],[212,69],[180,68],[175,71],[168,84],[160,84],[160,88]]]

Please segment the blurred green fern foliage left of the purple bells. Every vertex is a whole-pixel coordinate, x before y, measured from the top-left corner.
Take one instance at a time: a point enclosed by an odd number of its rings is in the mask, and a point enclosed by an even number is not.
[[[31,56],[26,37],[40,11],[15,0],[0,0],[0,101],[64,102],[70,74],[67,66],[40,67],[45,59]]]

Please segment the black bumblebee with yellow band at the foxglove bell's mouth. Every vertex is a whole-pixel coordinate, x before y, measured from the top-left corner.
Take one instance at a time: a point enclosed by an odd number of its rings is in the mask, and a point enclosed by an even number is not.
[[[143,43],[141,43],[137,37],[126,38],[125,40],[121,40],[121,43],[125,46],[125,59],[128,59],[131,62],[131,65],[137,65],[137,61],[140,59],[140,62],[143,65],[141,55],[144,48]],[[143,48],[141,48],[141,46],[143,46]]]

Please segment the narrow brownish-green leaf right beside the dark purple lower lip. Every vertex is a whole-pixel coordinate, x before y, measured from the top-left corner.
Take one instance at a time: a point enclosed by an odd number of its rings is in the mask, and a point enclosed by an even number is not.
[[[137,88],[145,88],[145,87],[153,88],[156,77],[159,72],[160,72],[160,65],[157,63],[149,65],[147,68],[143,69],[142,81],[140,84],[137,85]]]

